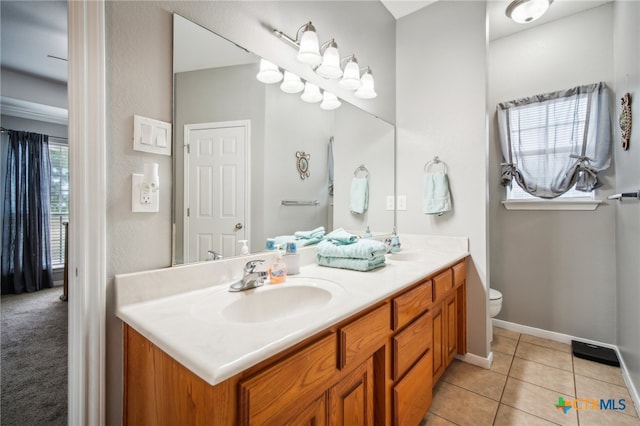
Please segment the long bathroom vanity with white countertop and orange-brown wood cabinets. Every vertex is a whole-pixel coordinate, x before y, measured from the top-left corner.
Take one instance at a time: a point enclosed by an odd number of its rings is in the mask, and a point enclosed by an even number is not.
[[[302,278],[238,296],[218,285],[144,300],[162,271],[117,277],[124,424],[417,425],[433,385],[466,353],[468,251],[443,242],[368,273],[308,264]],[[263,319],[243,317],[258,305],[236,309],[290,291],[302,305],[332,296]]]

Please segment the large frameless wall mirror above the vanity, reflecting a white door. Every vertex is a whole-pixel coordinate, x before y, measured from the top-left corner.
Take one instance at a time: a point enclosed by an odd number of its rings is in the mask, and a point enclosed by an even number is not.
[[[320,226],[392,231],[393,125],[259,82],[259,57],[176,14],[173,44],[174,264],[238,255],[242,240],[263,251],[267,238]],[[357,215],[350,192],[361,165],[369,207]]]

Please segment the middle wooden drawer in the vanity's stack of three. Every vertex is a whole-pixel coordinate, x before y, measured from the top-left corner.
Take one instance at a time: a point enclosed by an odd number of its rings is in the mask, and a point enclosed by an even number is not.
[[[422,314],[393,338],[393,380],[397,380],[431,348],[433,322],[431,313]]]

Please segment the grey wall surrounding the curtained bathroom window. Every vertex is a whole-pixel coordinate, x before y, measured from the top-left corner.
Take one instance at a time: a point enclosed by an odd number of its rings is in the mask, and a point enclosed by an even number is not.
[[[497,39],[489,47],[491,287],[499,319],[615,343],[615,203],[595,211],[513,211],[500,203],[499,102],[604,81],[613,86],[612,4]],[[613,97],[613,96],[612,96]],[[615,190],[614,169],[595,193]]]

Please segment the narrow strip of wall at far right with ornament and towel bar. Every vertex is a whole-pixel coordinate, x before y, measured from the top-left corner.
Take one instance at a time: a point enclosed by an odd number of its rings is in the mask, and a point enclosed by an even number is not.
[[[640,122],[640,2],[614,5],[614,117],[620,114],[620,98],[631,93],[632,116]],[[634,123],[635,124],[635,123]],[[616,126],[617,129],[617,126]],[[613,158],[616,192],[640,190],[640,126],[631,132],[629,150],[623,151],[615,132]],[[635,386],[640,391],[640,202],[616,204],[617,345]]]

